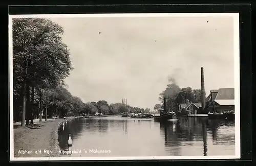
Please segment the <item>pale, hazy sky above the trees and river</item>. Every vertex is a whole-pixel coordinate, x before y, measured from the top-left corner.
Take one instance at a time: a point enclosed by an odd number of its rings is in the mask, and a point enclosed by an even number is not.
[[[83,102],[127,99],[133,107],[160,104],[173,77],[181,88],[206,94],[234,87],[233,18],[51,18],[63,27],[74,69],[65,82]]]

